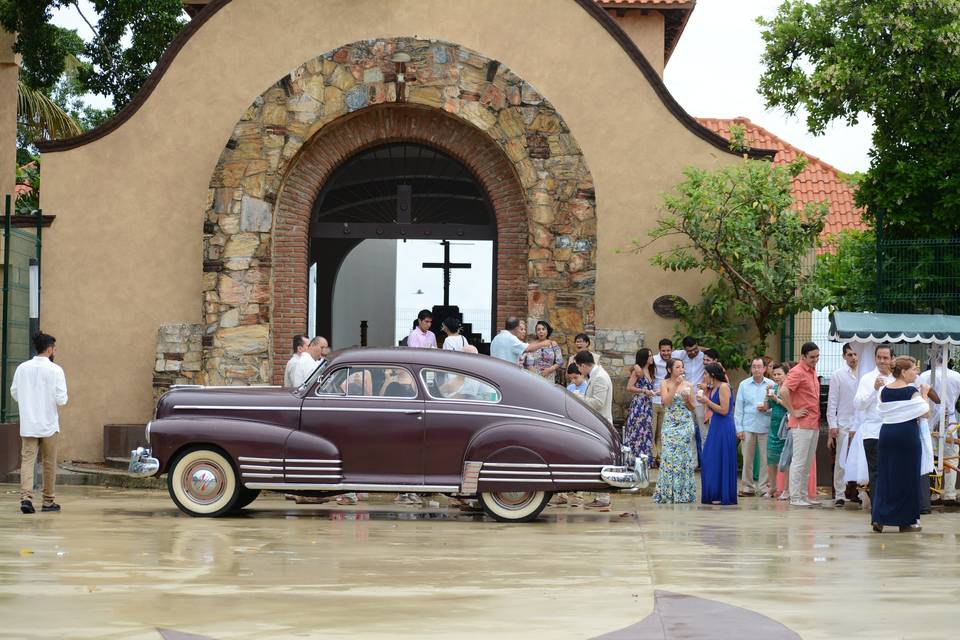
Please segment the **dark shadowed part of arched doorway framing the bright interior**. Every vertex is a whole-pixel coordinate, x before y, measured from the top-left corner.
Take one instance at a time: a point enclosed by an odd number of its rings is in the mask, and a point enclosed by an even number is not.
[[[317,196],[310,236],[310,262],[316,267],[316,326],[310,329],[320,335],[333,333],[337,274],[346,256],[363,240],[491,241],[496,282],[497,228],[490,198],[459,160],[419,143],[372,147],[343,163]],[[425,258],[435,260],[436,256]],[[495,284],[492,291],[489,320],[495,325]],[[356,295],[364,295],[362,285],[356,287]],[[450,300],[461,308],[470,302]],[[339,346],[344,345],[334,344]]]

